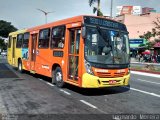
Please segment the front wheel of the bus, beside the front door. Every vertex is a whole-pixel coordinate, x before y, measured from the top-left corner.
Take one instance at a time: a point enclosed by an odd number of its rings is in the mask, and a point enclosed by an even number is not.
[[[63,74],[60,67],[57,67],[54,71],[54,80],[57,87],[64,87],[65,83],[63,81]]]

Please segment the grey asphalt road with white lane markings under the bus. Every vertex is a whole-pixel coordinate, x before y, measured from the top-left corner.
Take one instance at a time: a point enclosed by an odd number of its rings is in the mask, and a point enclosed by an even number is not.
[[[156,114],[160,119],[160,78],[154,75],[131,73],[130,87],[106,89],[71,85],[59,89],[50,82],[43,76],[18,73],[0,58],[0,113],[54,114],[58,119],[66,119],[66,115],[104,119],[104,114]],[[113,115],[109,118],[114,119]]]

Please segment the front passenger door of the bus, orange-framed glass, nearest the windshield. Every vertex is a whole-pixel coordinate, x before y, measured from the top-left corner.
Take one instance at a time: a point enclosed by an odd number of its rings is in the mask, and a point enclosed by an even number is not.
[[[70,29],[69,31],[69,56],[68,56],[68,79],[78,82],[79,79],[79,44],[80,29]]]

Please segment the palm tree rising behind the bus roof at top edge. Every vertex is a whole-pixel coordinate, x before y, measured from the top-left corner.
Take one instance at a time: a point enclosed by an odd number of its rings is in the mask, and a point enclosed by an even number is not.
[[[103,16],[100,10],[100,0],[89,0],[89,6],[91,7],[94,3],[97,3],[97,7],[93,7],[93,13],[97,12],[97,16]]]

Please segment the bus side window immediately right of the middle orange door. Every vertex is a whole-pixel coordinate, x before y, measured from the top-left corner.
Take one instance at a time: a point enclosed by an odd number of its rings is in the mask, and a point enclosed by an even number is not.
[[[48,48],[50,38],[50,29],[43,29],[39,32],[38,48]]]

